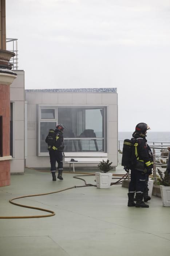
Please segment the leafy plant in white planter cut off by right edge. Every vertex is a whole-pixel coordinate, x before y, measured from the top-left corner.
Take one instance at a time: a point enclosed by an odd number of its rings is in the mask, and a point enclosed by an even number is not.
[[[160,184],[161,189],[161,198],[163,206],[169,206],[170,207],[170,174],[166,170],[165,172],[161,172],[161,170],[158,169],[158,184]]]

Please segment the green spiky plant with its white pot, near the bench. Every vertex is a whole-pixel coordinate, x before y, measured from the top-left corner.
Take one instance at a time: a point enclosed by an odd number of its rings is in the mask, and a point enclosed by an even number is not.
[[[98,169],[101,172],[96,172],[96,185],[97,188],[110,188],[112,173],[108,173],[113,167],[111,166],[112,162],[101,161],[98,165]]]

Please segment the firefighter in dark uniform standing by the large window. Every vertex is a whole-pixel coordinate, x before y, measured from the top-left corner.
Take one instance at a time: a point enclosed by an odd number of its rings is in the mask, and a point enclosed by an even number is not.
[[[51,173],[52,180],[56,181],[56,162],[58,163],[58,176],[59,180],[63,180],[63,149],[64,149],[64,126],[62,124],[58,124],[55,129],[55,141],[54,146],[50,146],[48,148],[50,155],[50,164],[51,164]]]

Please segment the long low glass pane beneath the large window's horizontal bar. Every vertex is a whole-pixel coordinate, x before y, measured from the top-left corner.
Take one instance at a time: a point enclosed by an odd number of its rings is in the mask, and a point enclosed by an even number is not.
[[[67,140],[64,139],[64,152],[104,151],[104,140]]]

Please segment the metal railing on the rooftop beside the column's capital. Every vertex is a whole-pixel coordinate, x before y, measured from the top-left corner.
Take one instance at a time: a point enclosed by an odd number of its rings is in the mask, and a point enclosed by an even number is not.
[[[10,63],[12,63],[13,67],[12,69],[17,70],[18,69],[18,44],[17,44],[17,38],[7,38],[6,43],[7,44],[7,50],[10,52],[14,52],[15,56],[11,58]]]

